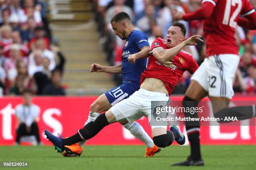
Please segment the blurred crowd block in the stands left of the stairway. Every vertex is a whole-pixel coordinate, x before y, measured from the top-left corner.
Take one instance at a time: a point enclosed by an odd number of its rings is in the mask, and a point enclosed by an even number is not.
[[[57,61],[57,62],[56,62]],[[65,58],[51,37],[44,0],[0,0],[0,96],[65,95]]]

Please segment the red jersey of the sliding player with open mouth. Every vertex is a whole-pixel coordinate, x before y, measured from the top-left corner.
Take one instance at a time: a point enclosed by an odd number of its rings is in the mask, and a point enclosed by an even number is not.
[[[167,49],[166,41],[157,38],[152,42],[151,52],[156,47],[162,47]],[[172,93],[175,85],[182,77],[184,71],[189,71],[191,74],[197,70],[198,65],[191,54],[181,50],[171,60],[161,63],[158,61],[153,54],[148,57],[147,69],[141,74],[141,83],[145,78],[157,78],[164,82],[165,87],[169,93]]]

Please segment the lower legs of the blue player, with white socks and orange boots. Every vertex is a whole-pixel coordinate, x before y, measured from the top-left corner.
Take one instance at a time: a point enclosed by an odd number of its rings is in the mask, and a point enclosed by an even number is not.
[[[106,110],[109,110],[110,102],[108,101],[108,98],[105,94],[100,95],[90,106],[90,113],[88,116],[88,120],[85,122],[84,125],[87,125],[87,123],[94,121],[101,112],[104,112]],[[158,150],[159,148],[154,145],[153,140],[148,136],[148,134],[145,132],[145,130],[142,128],[142,126],[138,122],[133,122],[133,124],[128,123],[127,120],[120,121],[120,124],[123,125],[124,128],[128,129],[132,135],[134,135],[136,138],[141,140],[146,145],[146,154],[145,156],[153,156],[155,152],[151,152],[151,150]],[[71,146],[65,146],[67,150],[64,151],[62,155],[68,155],[68,156],[76,156],[81,155],[84,144],[86,143],[86,140],[81,141],[79,143],[75,143]],[[77,154],[72,154],[72,151]],[[147,153],[150,152],[151,154],[148,155]],[[67,154],[68,153],[68,154]]]

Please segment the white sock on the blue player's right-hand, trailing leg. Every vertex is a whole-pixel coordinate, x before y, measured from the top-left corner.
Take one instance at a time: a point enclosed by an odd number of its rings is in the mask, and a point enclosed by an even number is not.
[[[148,136],[145,130],[142,128],[138,122],[133,122],[133,124],[127,123],[123,125],[125,129],[128,129],[133,136],[135,136],[138,140],[145,143],[147,148],[152,148],[155,144],[153,140]]]

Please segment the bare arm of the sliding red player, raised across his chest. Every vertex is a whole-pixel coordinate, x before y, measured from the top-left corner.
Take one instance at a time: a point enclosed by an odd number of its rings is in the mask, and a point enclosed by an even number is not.
[[[156,48],[156,50],[153,51],[154,57],[159,60],[160,62],[166,62],[171,60],[175,55],[179,53],[180,50],[182,50],[187,45],[197,45],[196,41],[204,42],[200,39],[200,35],[194,35],[192,37],[189,37],[187,40],[183,41],[179,45],[164,50],[163,48]]]

